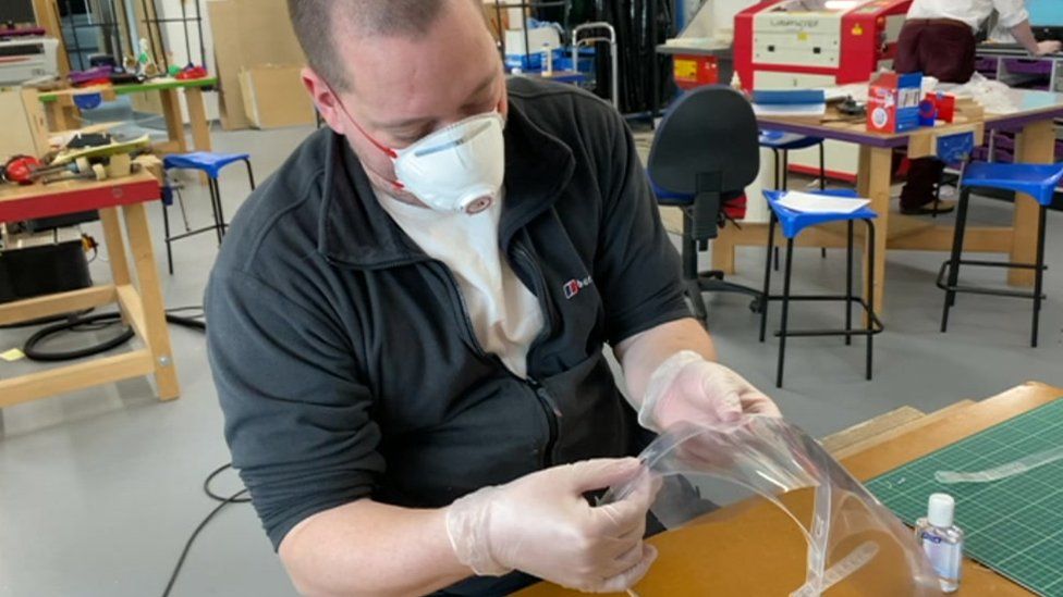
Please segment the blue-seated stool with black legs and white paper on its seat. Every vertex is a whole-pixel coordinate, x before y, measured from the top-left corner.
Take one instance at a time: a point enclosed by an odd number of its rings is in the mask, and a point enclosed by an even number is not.
[[[867,341],[866,350],[866,377],[871,378],[872,358],[875,351],[875,335],[882,332],[882,322],[875,313],[875,219],[878,214],[868,207],[863,207],[853,212],[834,213],[803,213],[791,210],[779,203],[786,195],[784,190],[766,190],[765,198],[771,208],[771,222],[768,225],[768,260],[765,263],[763,296],[770,304],[772,301],[782,303],[782,325],[775,336],[779,338],[779,364],[775,374],[775,386],[782,387],[783,371],[786,362],[786,338],[791,337],[826,337],[843,336],[845,344],[853,344],[853,336],[863,336]],[[856,199],[859,196],[852,190],[827,190],[818,195],[829,197],[843,197]],[[867,225],[868,234],[868,271],[867,271],[867,293],[866,298],[856,296],[853,289],[853,258],[854,258],[854,223],[862,221]],[[808,226],[824,224],[828,222],[847,222],[847,251],[846,251],[846,274],[844,295],[792,295],[791,278],[794,271],[794,238]],[[771,258],[775,249],[775,226],[782,225],[783,236],[786,238],[786,266],[783,278],[782,295],[771,294]],[[845,306],[845,327],[841,329],[790,329],[790,303],[792,301],[838,301]],[[866,316],[866,323],[862,327],[853,325],[853,304],[860,307]],[[768,332],[768,309],[760,313],[760,341],[765,341]]]

